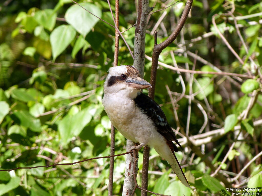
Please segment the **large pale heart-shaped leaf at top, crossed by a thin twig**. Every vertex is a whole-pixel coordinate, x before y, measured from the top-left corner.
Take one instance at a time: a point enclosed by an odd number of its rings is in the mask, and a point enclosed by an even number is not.
[[[91,3],[79,3],[79,5],[101,18],[102,12],[96,5]],[[99,18],[88,13],[79,5],[74,4],[66,11],[65,20],[85,37],[99,21]]]

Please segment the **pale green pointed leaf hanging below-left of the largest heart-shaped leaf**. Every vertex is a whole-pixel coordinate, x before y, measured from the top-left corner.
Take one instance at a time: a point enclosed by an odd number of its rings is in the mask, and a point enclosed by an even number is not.
[[[76,31],[71,25],[60,25],[50,34],[53,61],[61,54],[75,38]]]

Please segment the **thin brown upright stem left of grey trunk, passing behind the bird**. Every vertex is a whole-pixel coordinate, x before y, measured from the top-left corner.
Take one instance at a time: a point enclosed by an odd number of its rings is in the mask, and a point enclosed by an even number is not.
[[[108,4],[111,10],[110,2],[108,0]],[[111,11],[112,13],[112,11]],[[114,20],[114,16],[112,13],[112,18]],[[115,30],[115,51],[114,51],[114,66],[118,64],[118,49],[119,49],[119,0],[116,0],[115,5],[115,20],[114,20],[116,30]],[[113,156],[115,152],[115,128],[111,123],[111,141],[110,141],[110,155]],[[108,179],[108,196],[113,195],[113,176],[114,176],[114,157],[110,158],[110,167],[109,167],[109,179]]]

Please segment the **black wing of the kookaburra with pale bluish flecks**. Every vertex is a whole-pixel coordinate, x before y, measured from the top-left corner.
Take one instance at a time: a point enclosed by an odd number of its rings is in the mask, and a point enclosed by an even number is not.
[[[178,146],[181,147],[176,135],[166,120],[163,110],[154,100],[143,93],[138,93],[138,96],[134,99],[134,101],[135,105],[137,105],[154,122],[157,127],[157,131],[161,135],[163,135],[168,141],[176,142]],[[174,151],[178,151],[176,145],[174,145]]]

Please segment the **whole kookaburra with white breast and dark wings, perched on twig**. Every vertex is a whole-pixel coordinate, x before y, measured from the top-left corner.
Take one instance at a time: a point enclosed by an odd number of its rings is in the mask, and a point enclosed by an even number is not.
[[[140,78],[139,71],[130,65],[111,67],[104,84],[102,99],[105,111],[114,127],[127,139],[156,152],[171,165],[179,180],[190,188],[174,152],[181,145],[166,120],[161,107],[140,89],[152,87]]]

